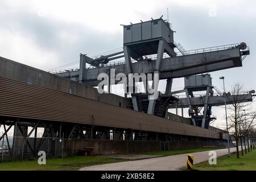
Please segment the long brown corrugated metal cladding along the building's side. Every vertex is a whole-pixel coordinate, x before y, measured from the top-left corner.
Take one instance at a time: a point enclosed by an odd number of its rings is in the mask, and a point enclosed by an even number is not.
[[[219,133],[0,77],[0,115],[219,138]]]

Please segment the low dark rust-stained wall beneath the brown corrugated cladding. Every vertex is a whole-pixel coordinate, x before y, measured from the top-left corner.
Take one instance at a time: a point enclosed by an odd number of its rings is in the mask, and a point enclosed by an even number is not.
[[[165,145],[165,147],[164,147]],[[147,152],[159,150],[181,150],[204,146],[225,147],[224,141],[208,142],[160,142],[138,140],[91,140],[72,139],[65,140],[64,154],[76,155],[82,148],[94,147],[94,155],[108,155],[131,152]]]

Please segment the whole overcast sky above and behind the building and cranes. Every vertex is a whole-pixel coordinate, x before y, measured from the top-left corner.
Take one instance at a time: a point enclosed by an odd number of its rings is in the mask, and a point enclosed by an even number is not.
[[[43,70],[122,47],[122,26],[152,18],[172,23],[175,42],[186,50],[245,42],[243,67],[213,72],[213,85],[235,82],[256,89],[255,1],[11,1],[0,0],[0,56]],[[174,90],[183,79],[175,79]],[[224,121],[224,110],[213,109]]]

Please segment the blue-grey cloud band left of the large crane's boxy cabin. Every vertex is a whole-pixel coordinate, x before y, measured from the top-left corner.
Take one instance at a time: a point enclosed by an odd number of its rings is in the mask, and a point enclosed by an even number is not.
[[[51,51],[60,57],[61,65],[78,60],[79,53],[95,55],[122,45],[122,32],[118,35],[108,35],[80,24],[61,22],[47,16],[39,17],[34,11],[19,10],[0,19],[1,29],[19,32],[27,39],[34,40],[40,49]],[[60,38],[61,31],[79,36],[79,39],[70,45]]]

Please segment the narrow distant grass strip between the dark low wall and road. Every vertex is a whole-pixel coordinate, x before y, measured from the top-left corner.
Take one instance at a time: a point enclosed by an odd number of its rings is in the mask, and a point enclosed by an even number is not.
[[[190,149],[183,149],[183,150],[167,150],[167,151],[152,151],[152,152],[136,152],[133,154],[138,155],[178,155],[178,154],[186,154],[192,152],[202,152],[208,150],[216,150],[217,148],[190,148]]]

